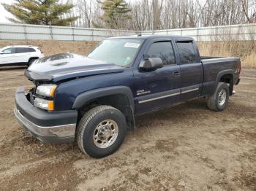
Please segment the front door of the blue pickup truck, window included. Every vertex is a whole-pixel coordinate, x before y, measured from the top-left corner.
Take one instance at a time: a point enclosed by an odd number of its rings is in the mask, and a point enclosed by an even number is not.
[[[176,103],[181,93],[180,67],[170,39],[149,43],[144,58],[162,58],[164,66],[154,71],[135,69],[136,114]]]

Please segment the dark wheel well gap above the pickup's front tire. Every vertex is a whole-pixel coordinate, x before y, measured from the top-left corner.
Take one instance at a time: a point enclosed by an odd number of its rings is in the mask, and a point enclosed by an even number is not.
[[[106,95],[87,102],[80,109],[78,109],[78,121],[81,117],[83,117],[83,114],[89,111],[89,109],[99,105],[113,106],[120,110],[127,120],[129,129],[134,128],[135,121],[132,108],[129,104],[129,99],[124,94]]]

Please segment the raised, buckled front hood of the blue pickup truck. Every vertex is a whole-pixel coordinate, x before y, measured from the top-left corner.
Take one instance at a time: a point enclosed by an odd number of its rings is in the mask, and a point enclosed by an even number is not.
[[[58,82],[63,79],[122,71],[123,68],[113,63],[96,61],[83,55],[63,53],[34,61],[25,71],[25,76],[31,80]]]

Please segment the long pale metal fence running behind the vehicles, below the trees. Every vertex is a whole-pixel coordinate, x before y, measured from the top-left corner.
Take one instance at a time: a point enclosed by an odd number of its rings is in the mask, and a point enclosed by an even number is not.
[[[198,42],[256,40],[256,24],[179,28],[157,31],[125,31],[105,28],[0,23],[0,40],[101,41],[110,36],[129,36],[135,34],[191,36]]]

